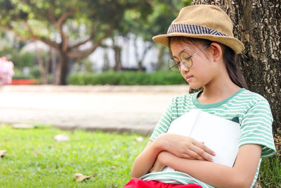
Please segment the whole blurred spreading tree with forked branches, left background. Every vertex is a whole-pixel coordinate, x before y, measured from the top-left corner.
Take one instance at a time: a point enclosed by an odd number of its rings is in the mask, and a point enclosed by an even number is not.
[[[55,84],[66,84],[69,58],[89,56],[119,28],[126,9],[141,5],[137,0],[0,0],[0,26],[58,51]]]

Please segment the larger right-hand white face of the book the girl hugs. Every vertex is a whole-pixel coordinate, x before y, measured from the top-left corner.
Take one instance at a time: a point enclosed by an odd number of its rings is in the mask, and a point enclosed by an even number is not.
[[[190,137],[215,151],[214,163],[233,167],[239,149],[239,123],[200,111]]]

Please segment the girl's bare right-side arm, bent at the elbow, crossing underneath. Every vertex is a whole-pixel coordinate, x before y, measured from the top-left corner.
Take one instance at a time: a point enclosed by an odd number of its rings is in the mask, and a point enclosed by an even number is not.
[[[178,158],[165,151],[159,153],[157,160],[214,187],[250,187],[260,157],[260,145],[246,144],[240,147],[233,168],[209,161]]]

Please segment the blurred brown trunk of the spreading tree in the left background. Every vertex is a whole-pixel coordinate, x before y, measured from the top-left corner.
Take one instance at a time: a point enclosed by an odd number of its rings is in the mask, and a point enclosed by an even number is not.
[[[60,61],[55,70],[55,84],[67,84],[68,57],[67,53],[60,51]]]

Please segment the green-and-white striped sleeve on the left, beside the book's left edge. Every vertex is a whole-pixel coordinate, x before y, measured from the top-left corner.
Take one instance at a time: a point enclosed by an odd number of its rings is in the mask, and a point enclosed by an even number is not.
[[[164,134],[168,131],[170,124],[172,122],[172,104],[174,103],[174,99],[172,99],[169,107],[166,108],[159,122],[157,123],[155,130],[152,132],[150,140],[154,141],[160,134]]]

